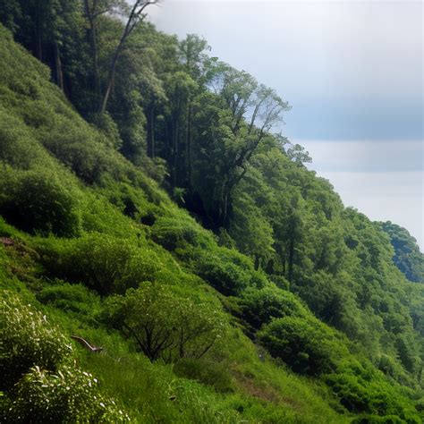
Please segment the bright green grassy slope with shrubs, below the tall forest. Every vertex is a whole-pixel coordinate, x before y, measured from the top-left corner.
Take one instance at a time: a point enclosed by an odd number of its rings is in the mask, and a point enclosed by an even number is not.
[[[382,355],[384,374],[218,243],[86,123],[3,28],[0,56],[2,419],[421,422],[412,371]],[[367,221],[356,219],[360,231]],[[371,244],[362,235],[351,242]],[[162,351],[143,343],[153,327]],[[413,370],[418,359],[403,343]]]

